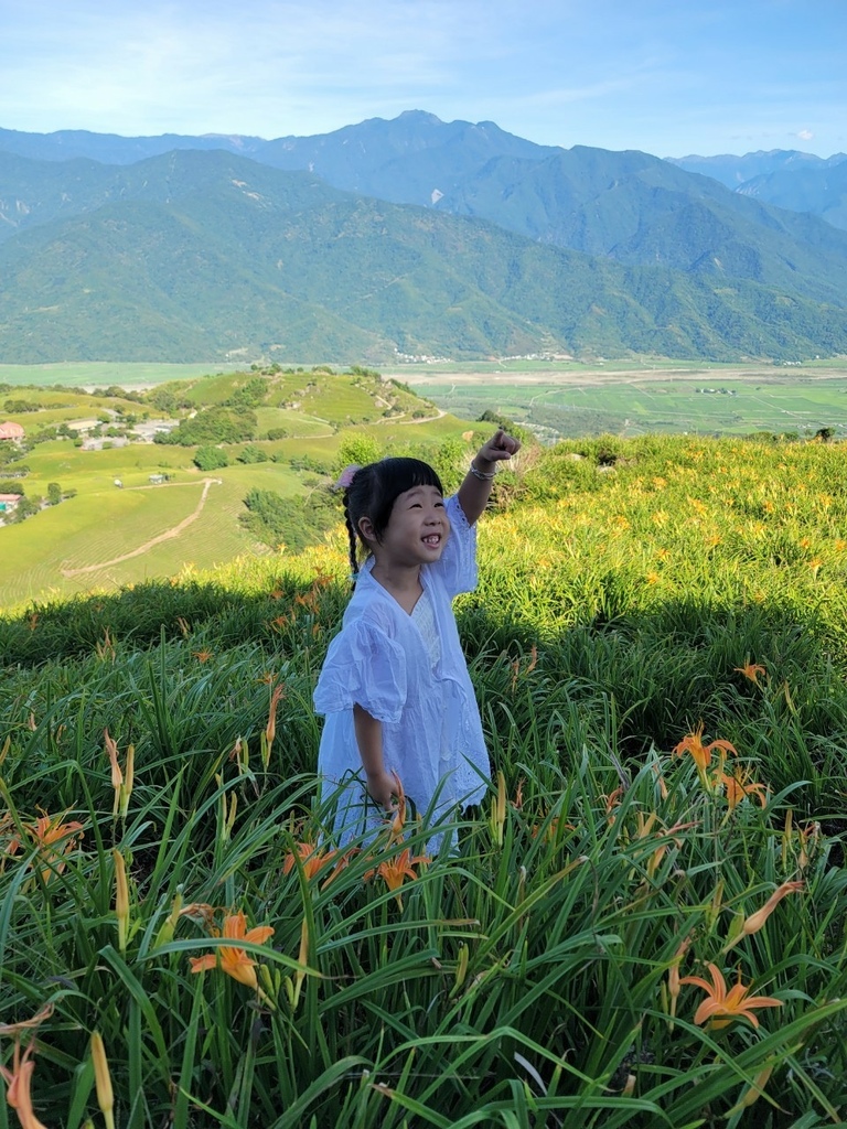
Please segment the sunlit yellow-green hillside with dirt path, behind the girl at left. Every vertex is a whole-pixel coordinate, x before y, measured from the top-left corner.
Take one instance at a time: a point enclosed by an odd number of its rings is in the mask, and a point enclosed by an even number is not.
[[[311,498],[315,506],[323,499],[326,508],[326,487],[344,443],[359,436],[379,452],[453,439],[465,458],[470,446],[460,437],[474,429],[403,385],[360,368],[212,374],[160,384],[132,399],[117,387],[103,391],[108,394],[7,386],[0,394],[0,410],[27,409],[6,411],[3,419],[25,428],[28,447],[17,458],[11,448],[0,453],[0,480],[19,485],[33,500],[46,498],[51,483],[66,496],[20,524],[0,527],[0,605],[7,610],[33,599],[112,590],[186,567],[209,569],[244,553],[263,555],[298,536],[320,540],[320,525],[311,534],[300,526],[314,517]],[[225,444],[229,465],[213,472],[195,465],[197,443],[113,446],[119,439],[108,436],[113,427],[137,435],[133,428],[157,420],[175,423],[215,409],[237,410],[245,397],[254,435]],[[72,427],[82,423],[84,430]],[[69,429],[64,437],[56,434],[62,426]],[[75,437],[90,437],[93,426],[104,432],[101,449],[76,446]],[[245,448],[264,461],[239,462],[247,457]],[[150,476],[157,474],[167,481],[152,484]],[[303,509],[287,530],[262,541],[243,520],[252,490],[298,499]]]

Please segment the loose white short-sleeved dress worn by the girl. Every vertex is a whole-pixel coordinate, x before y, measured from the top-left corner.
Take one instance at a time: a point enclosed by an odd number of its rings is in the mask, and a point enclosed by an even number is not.
[[[317,771],[324,798],[346,785],[335,819],[342,844],[385,819],[364,787],[355,704],[382,721],[386,771],[428,821],[478,804],[486,790],[488,751],[452,607],[477,586],[477,534],[456,497],[446,510],[451,534],[440,560],[421,567],[412,614],[372,577],[370,558],[317,680],[315,710],[326,716]]]

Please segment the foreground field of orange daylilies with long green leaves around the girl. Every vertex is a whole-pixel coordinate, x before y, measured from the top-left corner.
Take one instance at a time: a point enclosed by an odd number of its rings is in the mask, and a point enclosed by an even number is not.
[[[845,1123],[847,450],[521,463],[438,854],[324,831],[340,534],[0,620],[0,1129]]]

